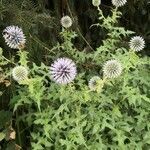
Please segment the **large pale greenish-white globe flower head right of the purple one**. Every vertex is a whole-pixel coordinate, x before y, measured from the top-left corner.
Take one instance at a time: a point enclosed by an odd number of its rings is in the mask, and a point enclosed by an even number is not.
[[[103,66],[104,77],[116,78],[122,72],[122,65],[117,60],[109,60]]]

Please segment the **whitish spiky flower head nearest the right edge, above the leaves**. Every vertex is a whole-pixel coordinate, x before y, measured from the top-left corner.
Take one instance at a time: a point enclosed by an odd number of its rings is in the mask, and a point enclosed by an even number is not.
[[[130,49],[138,52],[144,49],[145,41],[141,36],[134,36],[129,42]]]

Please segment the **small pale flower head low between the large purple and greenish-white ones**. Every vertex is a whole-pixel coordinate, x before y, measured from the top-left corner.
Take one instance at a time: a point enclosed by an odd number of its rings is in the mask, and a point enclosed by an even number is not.
[[[98,81],[100,80],[100,77],[94,76],[89,80],[89,88],[91,91],[96,91],[98,86]]]

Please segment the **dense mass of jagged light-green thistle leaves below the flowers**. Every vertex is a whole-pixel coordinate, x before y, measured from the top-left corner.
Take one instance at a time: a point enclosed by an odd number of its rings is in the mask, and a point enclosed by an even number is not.
[[[77,34],[63,29],[61,42],[46,55],[50,62],[61,56],[76,62],[78,75],[68,85],[52,82],[48,64],[37,65],[28,58],[28,52],[19,50],[15,58],[8,60],[1,50],[1,72],[4,83],[6,80],[11,82],[10,108],[15,117],[10,121],[12,114],[0,111],[3,120],[0,140],[6,138],[5,129],[10,129],[15,122],[19,145],[28,145],[33,150],[150,148],[147,122],[150,116],[150,60],[129,50],[126,41],[133,32],[117,26],[121,12],[114,9],[107,17],[100,9],[98,12],[99,23],[92,28],[102,28],[107,33],[100,47],[90,52],[79,51],[73,44]],[[38,38],[34,40],[39,42]],[[91,92],[89,79],[93,75],[102,77],[102,65],[109,59],[122,63],[122,75],[106,80],[101,90]],[[11,81],[15,64],[29,68],[28,80],[20,84]],[[5,149],[5,144],[2,148]]]

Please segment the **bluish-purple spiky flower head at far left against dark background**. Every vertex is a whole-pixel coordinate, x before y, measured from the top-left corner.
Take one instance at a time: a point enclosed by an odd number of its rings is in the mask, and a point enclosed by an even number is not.
[[[3,30],[3,37],[6,44],[12,49],[24,47],[26,39],[23,31],[18,26],[8,26]]]

